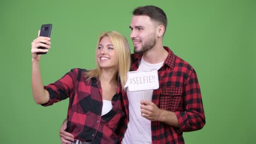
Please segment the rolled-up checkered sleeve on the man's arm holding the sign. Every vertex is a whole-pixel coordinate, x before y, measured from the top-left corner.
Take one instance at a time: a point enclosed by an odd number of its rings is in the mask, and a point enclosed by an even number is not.
[[[183,91],[183,107],[185,111],[176,111],[180,131],[195,131],[205,125],[205,113],[201,98],[201,91],[195,70],[190,71],[185,81]]]

